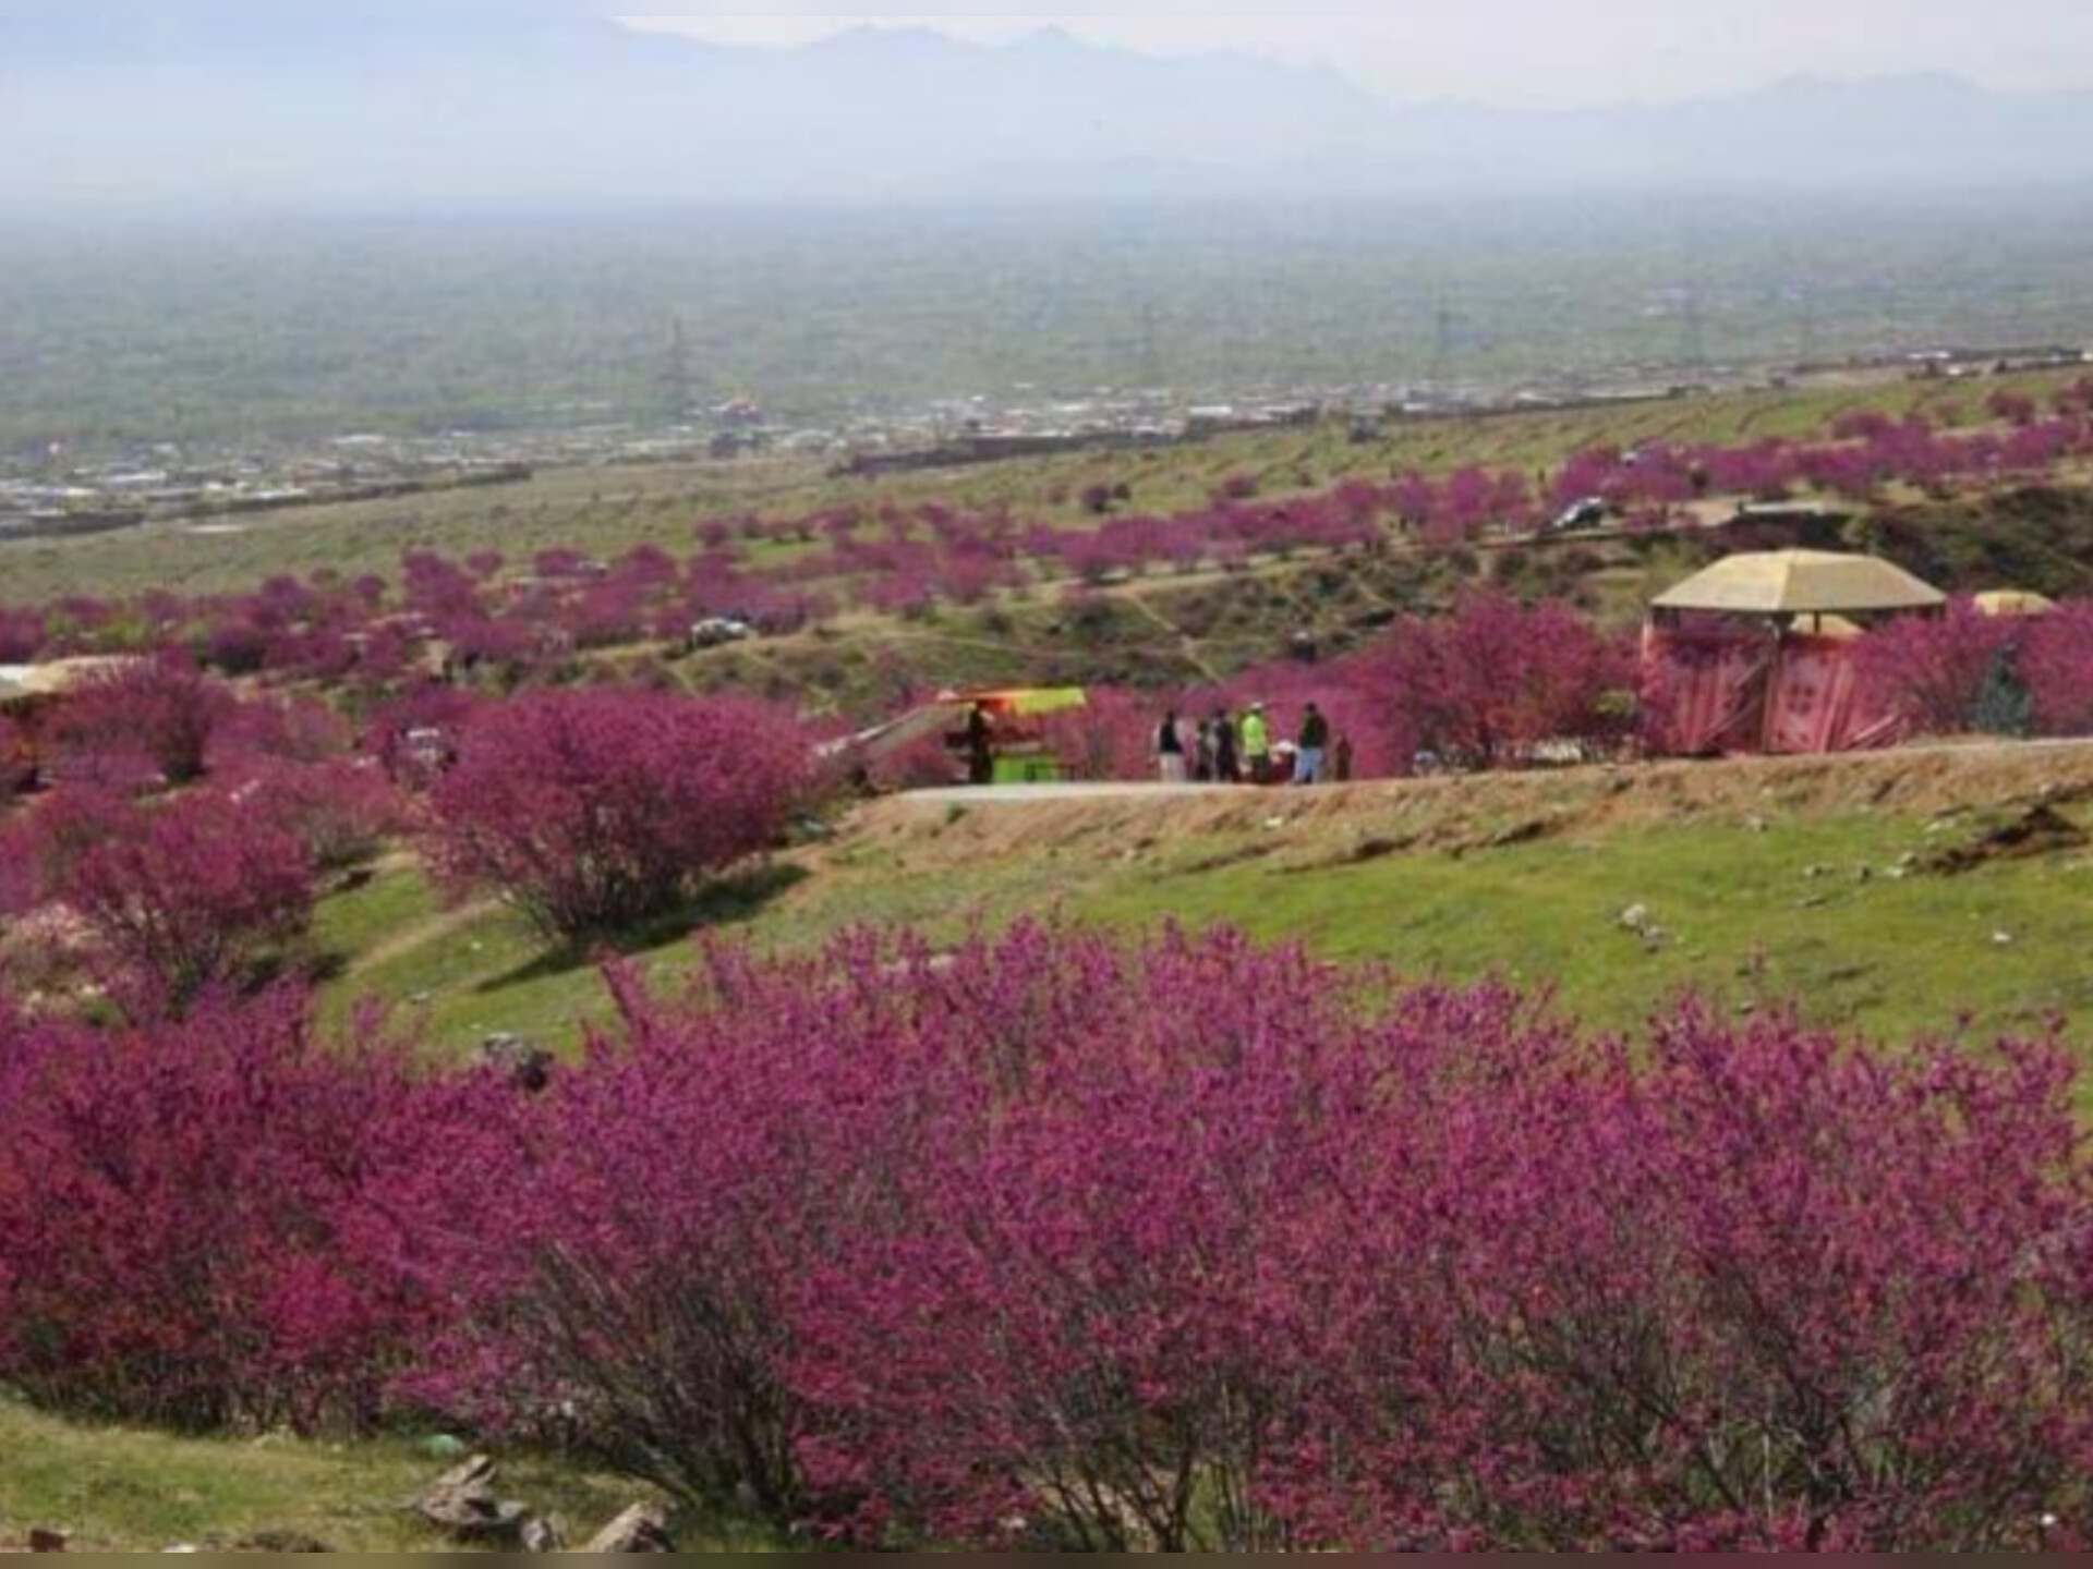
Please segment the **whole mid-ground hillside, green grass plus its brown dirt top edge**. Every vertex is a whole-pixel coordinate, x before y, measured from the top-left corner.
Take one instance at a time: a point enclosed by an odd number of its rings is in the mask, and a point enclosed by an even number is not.
[[[2039,812],[2053,812],[2055,822]],[[2009,843],[2024,824],[2041,833]],[[2062,824],[2062,826],[2060,826]],[[2093,1017],[2093,749],[1580,770],[1316,797],[1065,805],[890,801],[628,950],[699,935],[791,950],[854,925],[1237,925],[1409,977],[1505,977],[1595,1025],[1676,996],[1892,1040]],[[1997,843],[1995,843],[1997,841]],[[1641,908],[1645,931],[1622,916]],[[496,1031],[557,1046],[605,1000],[492,906],[444,910],[410,866],[331,900],[329,1000],[421,1015],[437,1054]],[[2078,1033],[2089,1046],[2093,1038]]]

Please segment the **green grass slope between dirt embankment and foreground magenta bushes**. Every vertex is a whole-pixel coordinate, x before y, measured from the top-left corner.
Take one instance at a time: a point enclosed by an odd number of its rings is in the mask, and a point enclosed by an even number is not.
[[[818,946],[860,925],[910,925],[950,941],[1023,914],[1155,927],[1233,925],[1273,941],[1390,964],[1406,977],[1507,979],[1576,1017],[1639,1029],[1693,992],[1741,1010],[1798,1004],[1813,1023],[1888,1040],[2039,1033],[2093,1017],[2093,858],[2060,854],[1944,877],[1909,870],[1976,828],[1911,818],[1779,818],[1641,826],[1465,856],[1396,854],[1342,864],[1356,839],[1201,839],[1155,851],[1030,845],[925,872],[881,845],[827,856],[804,881],[670,923],[624,948],[643,973],[689,971],[701,935],[766,952]],[[1643,906],[1664,929],[1622,927]],[[414,920],[423,920],[417,935]],[[571,1048],[607,998],[586,960],[546,954],[515,914],[444,916],[412,870],[331,900],[329,941],[385,933],[377,962],[337,979],[329,1010],[377,996],[456,1059],[494,1031]],[[2009,941],[1999,941],[1999,937]]]

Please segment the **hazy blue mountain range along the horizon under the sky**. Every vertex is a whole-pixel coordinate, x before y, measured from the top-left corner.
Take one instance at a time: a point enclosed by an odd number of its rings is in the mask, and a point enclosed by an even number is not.
[[[1394,105],[1335,69],[1042,31],[804,48],[590,0],[410,17],[0,15],[0,201],[515,207],[1084,197],[1919,195],[2093,186],[2093,94],[1794,79],[1589,111]]]

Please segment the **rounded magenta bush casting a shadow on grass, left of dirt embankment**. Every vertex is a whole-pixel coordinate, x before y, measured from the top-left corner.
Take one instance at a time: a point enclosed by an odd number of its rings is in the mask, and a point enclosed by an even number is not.
[[[628,929],[768,849],[814,784],[781,709],[657,692],[532,692],[481,713],[429,799],[429,856],[546,935]]]

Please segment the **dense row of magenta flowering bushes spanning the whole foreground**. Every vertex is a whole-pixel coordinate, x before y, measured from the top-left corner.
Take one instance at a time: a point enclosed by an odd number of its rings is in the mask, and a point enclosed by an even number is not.
[[[542,1092],[0,1015],[0,1381],[559,1439],[812,1540],[2070,1550],[2064,1054],[1595,1040],[1229,935],[613,973]],[[527,1203],[517,1203],[527,1195]]]

